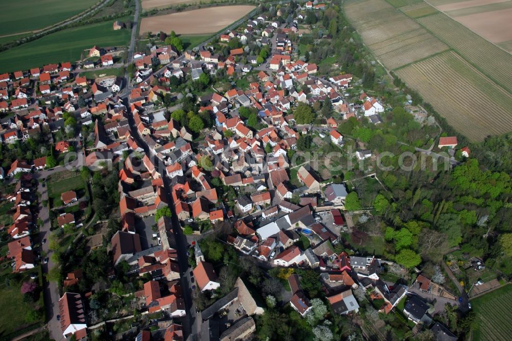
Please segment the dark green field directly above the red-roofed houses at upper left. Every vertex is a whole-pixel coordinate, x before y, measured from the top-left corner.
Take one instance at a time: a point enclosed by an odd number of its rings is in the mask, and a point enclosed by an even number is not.
[[[131,17],[119,18],[121,21]],[[84,49],[94,45],[126,46],[130,30],[114,31],[112,21],[80,26],[49,34],[0,53],[0,72],[42,67],[45,64],[80,59]]]

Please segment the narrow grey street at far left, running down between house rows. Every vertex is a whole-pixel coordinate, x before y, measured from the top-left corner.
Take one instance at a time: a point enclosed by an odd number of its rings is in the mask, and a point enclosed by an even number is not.
[[[79,162],[83,162],[83,155],[80,153],[80,158],[70,165],[73,167],[78,166]],[[41,199],[39,201],[39,219],[42,220],[42,226],[39,226],[39,238],[42,241],[46,239],[47,242],[42,244],[42,251],[46,253],[46,257],[49,258],[47,264],[42,264],[42,273],[47,274],[50,269],[56,266],[56,264],[52,260],[52,251],[48,248],[49,243],[48,239],[50,237],[50,215],[48,206],[43,206],[42,201],[48,200],[48,187],[42,186],[44,179],[48,176],[63,171],[63,167],[57,166],[48,171],[40,171],[34,174],[34,178],[38,180],[37,191],[41,194]],[[47,327],[50,332],[50,337],[59,341],[64,339],[62,336],[62,331],[60,329],[60,323],[57,321],[57,315],[59,314],[59,308],[57,302],[60,299],[57,283],[48,282],[44,279],[43,281],[43,290],[44,290],[44,298],[45,298],[45,308],[46,308],[46,317],[48,319]]]

